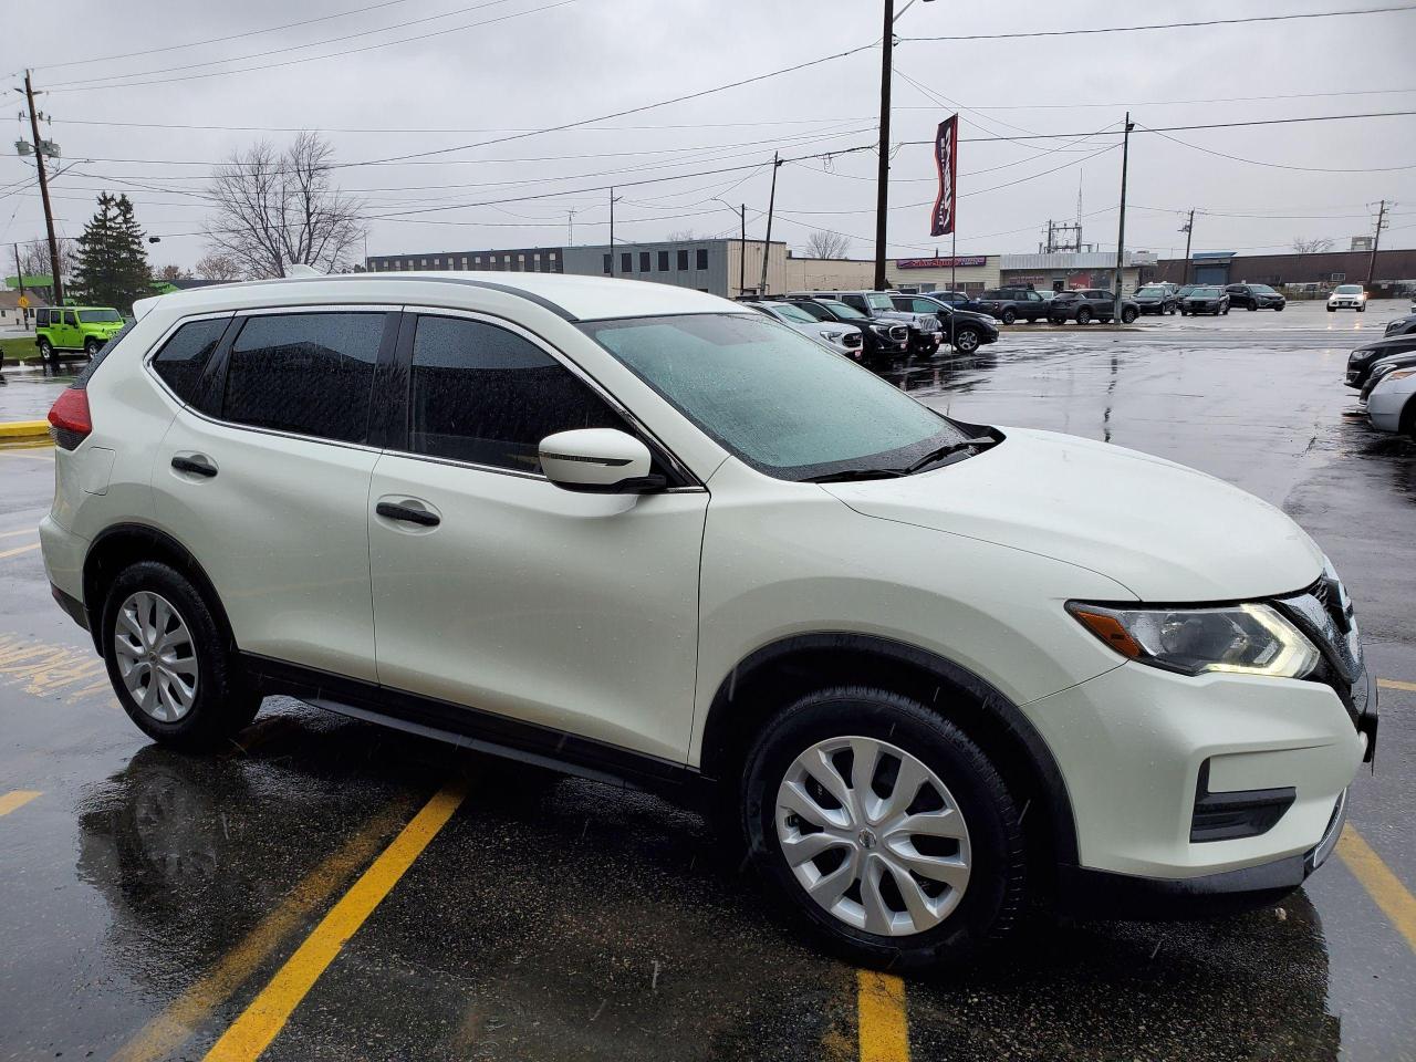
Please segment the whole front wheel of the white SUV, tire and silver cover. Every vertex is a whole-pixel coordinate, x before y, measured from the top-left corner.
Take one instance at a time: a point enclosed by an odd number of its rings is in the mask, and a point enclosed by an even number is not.
[[[1022,827],[998,772],[952,722],[885,690],[814,692],[767,724],[742,824],[792,913],[854,963],[959,963],[1024,908]]]

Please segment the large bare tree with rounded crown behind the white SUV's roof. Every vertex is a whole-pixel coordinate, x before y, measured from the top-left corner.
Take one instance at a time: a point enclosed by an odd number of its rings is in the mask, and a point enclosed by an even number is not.
[[[364,239],[364,204],[334,187],[334,149],[299,133],[287,150],[262,140],[217,167],[208,194],[217,212],[204,227],[208,249],[229,255],[253,279],[286,266],[347,270]]]

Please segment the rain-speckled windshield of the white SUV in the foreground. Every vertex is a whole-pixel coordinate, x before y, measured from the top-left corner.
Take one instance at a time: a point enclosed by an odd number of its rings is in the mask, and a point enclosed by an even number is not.
[[[726,450],[777,479],[895,469],[969,438],[869,370],[756,314],[581,329]]]

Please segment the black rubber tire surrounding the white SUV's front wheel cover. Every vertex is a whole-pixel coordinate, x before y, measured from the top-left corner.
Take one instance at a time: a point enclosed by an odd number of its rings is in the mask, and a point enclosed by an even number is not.
[[[777,789],[801,752],[840,736],[875,738],[918,758],[959,806],[969,830],[971,874],[959,906],[930,929],[888,936],[837,919],[807,895],[782,854]],[[1003,779],[963,731],[899,694],[841,687],[809,694],[786,708],[766,725],[748,755],[741,809],[749,854],[794,919],[852,963],[896,971],[954,966],[1005,937],[1022,915],[1022,824]]]

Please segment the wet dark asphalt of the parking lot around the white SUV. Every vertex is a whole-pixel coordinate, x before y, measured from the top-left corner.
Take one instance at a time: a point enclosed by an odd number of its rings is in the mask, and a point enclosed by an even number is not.
[[[1374,432],[1341,382],[1403,309],[1020,324],[885,375],[966,421],[1107,439],[1283,507],[1347,581],[1376,674],[1416,684],[1416,443]],[[67,382],[6,375],[0,421]],[[40,793],[0,816],[0,1059],[201,1058],[455,777],[457,813],[263,1058],[857,1056],[855,971],[688,811],[283,700],[225,755],[149,745],[25,549],[51,490],[52,450],[0,449],[0,796]],[[1351,823],[1409,891],[1413,777],[1416,691],[1386,688]],[[1245,916],[1038,916],[993,960],[910,981],[906,1011],[916,1059],[1410,1059],[1416,952],[1334,857]]]

